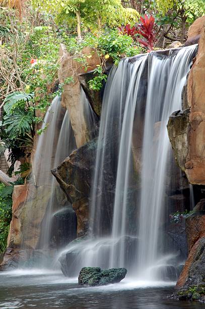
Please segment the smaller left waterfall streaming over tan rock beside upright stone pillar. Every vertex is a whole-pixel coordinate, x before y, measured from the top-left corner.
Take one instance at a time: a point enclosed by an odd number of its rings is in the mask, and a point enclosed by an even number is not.
[[[32,167],[33,181],[37,189],[36,192],[38,195],[38,190],[40,190],[42,200],[38,201],[34,198],[28,203],[27,216],[29,219],[27,220],[28,225],[24,227],[24,248],[32,245],[34,248],[49,250],[52,213],[62,208],[62,203],[60,202],[64,199],[64,193],[60,190],[55,178],[52,176],[51,169],[59,165],[76,149],[69,115],[65,111],[61,107],[60,97],[56,96],[44,117],[42,129],[45,130],[38,138]],[[37,203],[42,204],[38,205]],[[35,209],[38,209],[38,211],[35,212]],[[41,234],[39,236],[38,234],[36,235],[40,239],[37,238],[37,242],[34,239],[34,242],[30,243],[30,239],[28,238],[30,234],[29,230],[33,222],[34,224],[35,222],[38,224],[43,214],[44,219],[41,223]],[[34,229],[34,227],[32,228]]]

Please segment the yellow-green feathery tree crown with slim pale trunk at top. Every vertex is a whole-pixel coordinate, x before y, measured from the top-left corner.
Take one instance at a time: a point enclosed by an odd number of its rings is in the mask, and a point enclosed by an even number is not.
[[[81,38],[81,25],[92,30],[101,29],[105,24],[110,27],[117,24],[135,23],[139,13],[124,8],[120,0],[33,0],[33,6],[51,11],[58,23],[67,22],[77,26]]]

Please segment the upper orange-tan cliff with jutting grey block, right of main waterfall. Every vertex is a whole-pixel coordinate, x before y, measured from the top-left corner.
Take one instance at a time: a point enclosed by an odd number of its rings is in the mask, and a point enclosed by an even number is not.
[[[172,114],[168,133],[177,163],[188,181],[191,184],[205,185],[205,17],[201,17],[197,23],[199,22],[200,25],[203,22],[203,26],[198,54],[183,93],[186,110]]]

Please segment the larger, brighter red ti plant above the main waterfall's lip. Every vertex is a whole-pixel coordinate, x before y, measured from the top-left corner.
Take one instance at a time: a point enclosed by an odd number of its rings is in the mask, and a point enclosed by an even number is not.
[[[156,40],[155,37],[155,19],[153,16],[150,18],[145,14],[145,18],[141,16],[141,23],[136,25],[136,33],[142,35],[144,38],[141,39],[139,37],[135,37],[137,41],[139,41],[142,45],[146,47],[148,50],[153,50],[154,42]]]

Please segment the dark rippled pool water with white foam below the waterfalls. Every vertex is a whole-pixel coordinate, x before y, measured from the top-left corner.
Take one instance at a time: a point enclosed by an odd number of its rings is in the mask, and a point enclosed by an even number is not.
[[[199,302],[163,299],[174,291],[173,286],[145,287],[146,284],[127,280],[105,287],[82,288],[76,279],[59,273],[16,270],[0,273],[0,308],[205,308]]]

